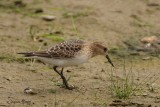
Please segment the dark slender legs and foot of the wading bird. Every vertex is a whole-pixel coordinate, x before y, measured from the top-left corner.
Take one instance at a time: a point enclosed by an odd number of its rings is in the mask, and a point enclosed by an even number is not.
[[[72,87],[69,87],[68,82],[67,82],[66,78],[63,75],[63,68],[62,68],[62,70],[60,72],[57,70],[57,66],[54,66],[53,69],[54,69],[55,72],[57,72],[61,76],[62,81],[63,81],[63,85],[65,86],[65,88],[71,90]]]

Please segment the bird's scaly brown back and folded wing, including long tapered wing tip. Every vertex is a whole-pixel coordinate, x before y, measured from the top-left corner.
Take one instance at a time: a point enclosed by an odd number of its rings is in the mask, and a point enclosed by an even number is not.
[[[84,46],[86,42],[82,40],[70,40],[59,43],[46,51],[24,52],[25,57],[39,56],[46,58],[73,58]]]

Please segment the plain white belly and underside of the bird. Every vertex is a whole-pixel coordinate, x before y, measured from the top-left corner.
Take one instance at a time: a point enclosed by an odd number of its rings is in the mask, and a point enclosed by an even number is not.
[[[79,65],[87,62],[89,59],[89,57],[87,57],[86,55],[78,56],[75,58],[66,58],[66,59],[54,59],[45,57],[36,57],[36,58],[51,66],[60,66],[60,67]]]

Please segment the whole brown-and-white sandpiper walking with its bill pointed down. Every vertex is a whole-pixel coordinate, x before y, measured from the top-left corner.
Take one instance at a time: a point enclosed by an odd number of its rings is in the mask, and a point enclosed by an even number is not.
[[[24,57],[35,58],[43,63],[51,65],[53,70],[61,77],[64,87],[68,90],[72,90],[73,87],[69,86],[63,74],[64,67],[85,63],[97,55],[104,55],[108,59],[108,62],[114,67],[106,46],[101,42],[79,39],[61,42],[44,51],[19,52],[17,54],[23,54]],[[58,67],[62,69],[58,71]]]

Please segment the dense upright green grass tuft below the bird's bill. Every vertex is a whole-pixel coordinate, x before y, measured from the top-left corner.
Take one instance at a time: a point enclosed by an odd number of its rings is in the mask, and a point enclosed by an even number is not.
[[[134,77],[131,70],[127,73],[125,61],[123,67],[123,77],[113,78],[113,71],[111,71],[110,79],[111,79],[111,91],[115,95],[115,97],[119,99],[128,99],[134,92]]]

